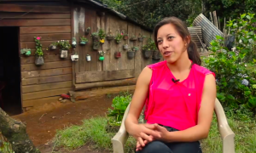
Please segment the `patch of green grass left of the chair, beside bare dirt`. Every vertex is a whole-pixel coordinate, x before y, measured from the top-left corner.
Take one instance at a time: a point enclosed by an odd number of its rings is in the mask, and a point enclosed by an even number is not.
[[[107,133],[108,118],[96,117],[84,120],[81,126],[67,127],[59,130],[55,136],[56,146],[64,146],[67,150],[75,150],[84,144],[90,144],[96,150],[112,150],[111,138],[115,133]],[[135,140],[129,138],[125,144],[125,152],[131,152]]]

